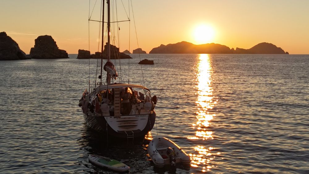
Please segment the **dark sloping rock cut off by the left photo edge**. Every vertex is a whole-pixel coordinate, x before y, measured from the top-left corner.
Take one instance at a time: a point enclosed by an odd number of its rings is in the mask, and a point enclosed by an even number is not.
[[[30,59],[6,32],[0,32],[0,60]]]

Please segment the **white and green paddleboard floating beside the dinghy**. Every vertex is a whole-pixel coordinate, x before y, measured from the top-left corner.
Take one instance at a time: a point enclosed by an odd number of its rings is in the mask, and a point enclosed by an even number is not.
[[[114,170],[117,172],[125,172],[130,169],[130,167],[125,165],[124,163],[121,163],[115,159],[107,158],[104,156],[89,155],[88,159],[89,159],[89,162],[97,166],[108,168],[110,170]]]

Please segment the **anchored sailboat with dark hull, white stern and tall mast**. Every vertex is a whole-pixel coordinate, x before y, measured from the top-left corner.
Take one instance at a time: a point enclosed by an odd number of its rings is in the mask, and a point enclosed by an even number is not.
[[[107,0],[107,33],[111,32],[110,0]],[[104,0],[103,0],[104,20]],[[104,21],[102,21],[103,33]],[[111,59],[110,34],[103,55],[103,34],[100,75],[93,88],[85,89],[79,101],[87,125],[96,131],[114,138],[144,137],[154,126],[157,97],[142,85],[111,83],[118,78],[118,72]],[[112,46],[114,47],[114,46]],[[115,54],[114,54],[115,55]],[[103,66],[103,59],[107,62]],[[102,83],[102,69],[106,71],[106,81]],[[90,86],[90,85],[89,85]],[[91,89],[91,90],[90,90]]]

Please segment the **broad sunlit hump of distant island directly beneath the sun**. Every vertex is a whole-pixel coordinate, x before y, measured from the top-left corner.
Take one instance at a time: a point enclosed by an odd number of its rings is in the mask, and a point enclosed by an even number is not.
[[[189,42],[178,42],[176,44],[160,45],[157,48],[153,48],[150,52],[153,53],[167,53],[167,54],[229,54],[232,53],[231,49],[225,45],[220,44],[202,44],[194,45]]]

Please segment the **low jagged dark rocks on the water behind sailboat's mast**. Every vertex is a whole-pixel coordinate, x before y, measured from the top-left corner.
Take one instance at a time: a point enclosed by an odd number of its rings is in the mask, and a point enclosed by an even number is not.
[[[107,43],[106,43],[107,44]],[[107,52],[107,45],[104,45],[104,51],[103,51],[103,59],[106,58],[106,52]],[[111,53],[111,59],[132,59],[131,56],[119,52],[119,48],[117,48],[114,45],[111,45],[110,47],[110,53]],[[78,50],[78,59],[100,59],[102,58],[102,53],[101,52],[95,52],[95,54],[90,55],[90,51],[79,49]]]

